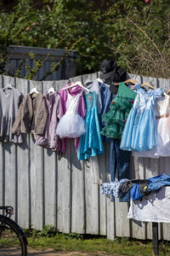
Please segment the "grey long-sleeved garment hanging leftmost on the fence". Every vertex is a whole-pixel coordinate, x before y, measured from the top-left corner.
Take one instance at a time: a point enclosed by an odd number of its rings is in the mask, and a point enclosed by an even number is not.
[[[0,142],[22,143],[21,136],[12,134],[12,126],[22,98],[19,90],[13,87],[0,90]]]

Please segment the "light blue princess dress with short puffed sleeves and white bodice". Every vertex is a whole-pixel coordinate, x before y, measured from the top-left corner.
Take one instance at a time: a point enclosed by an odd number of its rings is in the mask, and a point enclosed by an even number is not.
[[[156,116],[154,112],[156,97],[161,97],[163,90],[145,91],[135,84],[137,96],[127,117],[122,133],[122,150],[150,150],[156,146]]]

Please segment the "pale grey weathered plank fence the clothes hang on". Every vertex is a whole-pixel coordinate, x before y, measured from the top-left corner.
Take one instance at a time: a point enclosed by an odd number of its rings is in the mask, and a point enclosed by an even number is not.
[[[139,82],[150,81],[165,90],[169,79],[145,78],[129,75]],[[96,79],[99,73],[79,76],[71,81]],[[54,86],[59,90],[67,84],[60,81],[29,81],[0,76],[0,88],[14,84],[24,95],[36,86],[42,93]],[[103,182],[110,181],[110,144],[105,143],[105,154],[99,158],[99,172]],[[131,178],[148,178],[159,173],[169,173],[170,158],[132,157]],[[134,168],[135,166],[135,168]],[[90,162],[77,160],[74,141],[70,139],[65,156],[57,155],[34,143],[27,135],[18,146],[0,144],[0,205],[14,207],[14,219],[23,228],[41,230],[52,224],[59,232],[107,236],[127,236],[151,239],[151,224],[127,219],[129,204],[111,202],[101,194],[101,186],[94,184]],[[159,224],[159,238],[170,240],[170,224]]]

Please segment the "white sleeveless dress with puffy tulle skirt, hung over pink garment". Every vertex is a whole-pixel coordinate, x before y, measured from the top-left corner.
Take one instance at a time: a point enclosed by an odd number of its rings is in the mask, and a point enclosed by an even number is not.
[[[67,102],[66,102],[66,112],[59,120],[59,125],[56,129],[56,134],[59,137],[81,137],[82,134],[86,132],[85,121],[78,114],[78,103],[81,93],[77,94],[77,96],[71,96],[69,91],[67,90]]]

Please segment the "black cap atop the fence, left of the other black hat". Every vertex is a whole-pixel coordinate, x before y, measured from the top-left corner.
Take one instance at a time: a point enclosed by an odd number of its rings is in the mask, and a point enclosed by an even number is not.
[[[109,79],[111,77],[111,73],[116,68],[116,61],[114,60],[104,60],[99,65],[99,70],[101,72],[100,79]]]

